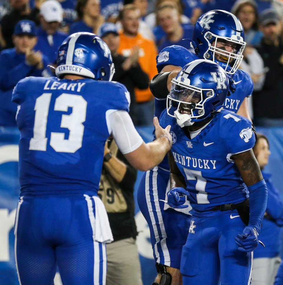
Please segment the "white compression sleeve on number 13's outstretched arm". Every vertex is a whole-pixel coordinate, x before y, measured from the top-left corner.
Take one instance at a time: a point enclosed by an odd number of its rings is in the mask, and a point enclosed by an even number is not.
[[[143,139],[135,129],[128,112],[116,110],[106,117],[106,121],[121,153],[130,153],[141,146]]]

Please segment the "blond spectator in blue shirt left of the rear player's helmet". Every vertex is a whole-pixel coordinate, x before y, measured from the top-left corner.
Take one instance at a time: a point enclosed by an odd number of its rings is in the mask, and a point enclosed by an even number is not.
[[[192,38],[194,26],[189,24],[182,26],[180,16],[174,5],[161,4],[157,7],[157,21],[166,33],[159,42],[159,52],[170,45],[180,45],[190,49],[190,41],[182,39]]]

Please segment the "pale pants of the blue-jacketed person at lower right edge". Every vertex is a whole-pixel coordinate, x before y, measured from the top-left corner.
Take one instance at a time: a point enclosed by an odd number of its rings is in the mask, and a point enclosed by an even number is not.
[[[254,258],[252,285],[272,285],[280,265],[279,256],[273,258]]]

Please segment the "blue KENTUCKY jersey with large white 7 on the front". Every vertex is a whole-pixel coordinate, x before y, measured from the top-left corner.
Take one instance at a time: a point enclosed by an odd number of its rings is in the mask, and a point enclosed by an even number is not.
[[[255,136],[248,119],[223,109],[193,139],[166,110],[160,116],[160,125],[171,125],[171,152],[185,177],[193,209],[205,211],[247,199],[248,191],[230,157],[254,146]]]

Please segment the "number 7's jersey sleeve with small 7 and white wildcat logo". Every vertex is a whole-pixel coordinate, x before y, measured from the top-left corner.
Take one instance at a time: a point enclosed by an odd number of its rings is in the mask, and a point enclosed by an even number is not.
[[[233,162],[230,157],[252,149],[256,139],[251,128],[251,121],[248,119],[230,112],[223,116],[224,119],[227,121],[223,122],[222,132],[225,132],[226,137],[227,160]]]

